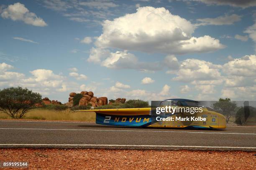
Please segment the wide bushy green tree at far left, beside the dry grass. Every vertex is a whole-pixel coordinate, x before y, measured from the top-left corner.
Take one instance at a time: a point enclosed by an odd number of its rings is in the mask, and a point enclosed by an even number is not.
[[[41,103],[42,96],[27,88],[9,87],[0,90],[0,111],[10,117],[20,119],[28,110]]]

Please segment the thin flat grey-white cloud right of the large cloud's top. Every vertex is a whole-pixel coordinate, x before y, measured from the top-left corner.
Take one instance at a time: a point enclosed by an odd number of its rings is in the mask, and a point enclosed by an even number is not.
[[[232,15],[225,15],[220,16],[217,18],[201,18],[197,19],[197,21],[200,21],[201,23],[196,24],[199,25],[232,25],[235,22],[238,22],[241,20],[241,16],[232,14]]]

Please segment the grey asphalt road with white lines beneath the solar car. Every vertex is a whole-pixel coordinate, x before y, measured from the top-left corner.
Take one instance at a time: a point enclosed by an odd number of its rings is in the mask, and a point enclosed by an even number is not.
[[[256,151],[256,127],[184,130],[86,122],[0,121],[0,148],[15,147]]]

